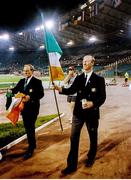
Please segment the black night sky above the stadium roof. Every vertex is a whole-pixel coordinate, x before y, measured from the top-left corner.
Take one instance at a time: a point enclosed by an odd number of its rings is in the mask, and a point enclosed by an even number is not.
[[[46,12],[65,13],[84,2],[85,0],[2,0],[0,31],[20,30],[38,15],[38,9]]]

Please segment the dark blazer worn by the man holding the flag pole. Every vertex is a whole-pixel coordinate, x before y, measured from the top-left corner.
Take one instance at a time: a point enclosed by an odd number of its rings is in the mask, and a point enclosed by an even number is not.
[[[68,89],[62,88],[62,94],[69,95],[77,92],[73,114],[79,119],[90,120],[99,119],[99,107],[106,99],[105,80],[103,77],[92,73],[85,86],[85,75],[77,76],[72,86]],[[90,109],[82,109],[82,99],[92,101],[94,106]]]

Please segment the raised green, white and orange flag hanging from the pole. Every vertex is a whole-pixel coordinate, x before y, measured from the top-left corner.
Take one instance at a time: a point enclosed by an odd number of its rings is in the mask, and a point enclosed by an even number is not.
[[[64,73],[60,65],[62,50],[52,32],[44,27],[45,47],[50,61],[51,80],[63,80]]]

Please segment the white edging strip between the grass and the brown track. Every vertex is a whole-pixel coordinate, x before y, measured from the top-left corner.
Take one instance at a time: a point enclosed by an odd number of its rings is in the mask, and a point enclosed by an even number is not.
[[[63,113],[63,114],[60,115],[60,117],[63,117],[64,115],[65,115],[65,114]],[[35,132],[37,132],[37,131],[39,131],[40,129],[48,126],[49,124],[57,121],[58,119],[59,119],[59,117],[56,117],[56,118],[52,119],[51,121],[43,124],[42,126],[36,128],[36,129],[35,129]],[[18,139],[16,139],[16,140],[12,141],[11,143],[7,144],[6,146],[2,147],[2,148],[0,149],[0,151],[1,151],[1,150],[7,150],[7,149],[9,149],[9,148],[11,148],[12,146],[18,144],[19,142],[21,142],[22,140],[24,140],[24,139],[26,139],[26,138],[27,138],[27,135],[25,134],[25,135],[21,136],[20,138],[18,138]]]

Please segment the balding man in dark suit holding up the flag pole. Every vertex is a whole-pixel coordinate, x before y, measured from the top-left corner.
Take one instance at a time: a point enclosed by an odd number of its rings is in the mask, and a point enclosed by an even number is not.
[[[83,73],[76,77],[69,88],[66,89],[54,85],[54,89],[58,90],[60,94],[77,93],[70,138],[71,148],[67,158],[67,167],[62,170],[62,173],[65,175],[77,170],[80,132],[84,123],[90,139],[88,158],[85,162],[86,167],[91,167],[95,161],[98,120],[100,118],[99,107],[105,102],[106,91],[104,78],[93,72],[94,63],[95,58],[91,55],[86,55],[83,58]]]

